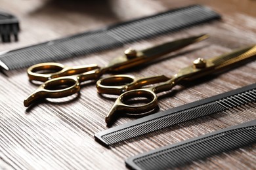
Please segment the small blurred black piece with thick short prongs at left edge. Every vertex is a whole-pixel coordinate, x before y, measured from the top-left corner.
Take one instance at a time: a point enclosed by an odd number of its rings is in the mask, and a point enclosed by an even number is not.
[[[2,42],[11,42],[13,35],[14,41],[18,41],[19,31],[18,18],[7,12],[0,11],[0,40],[2,40]]]

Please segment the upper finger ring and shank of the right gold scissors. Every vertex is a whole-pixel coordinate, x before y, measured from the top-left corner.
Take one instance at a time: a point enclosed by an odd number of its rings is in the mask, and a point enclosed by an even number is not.
[[[135,76],[131,75],[114,75],[98,80],[96,82],[96,88],[98,93],[120,95],[129,90],[142,88],[143,86],[158,82],[165,82],[167,80],[169,80],[169,78],[164,75],[149,76],[146,78],[135,78]]]

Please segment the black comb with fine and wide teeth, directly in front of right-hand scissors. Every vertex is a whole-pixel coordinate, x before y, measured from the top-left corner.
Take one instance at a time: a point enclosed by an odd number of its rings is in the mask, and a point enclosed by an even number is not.
[[[95,134],[95,139],[104,146],[119,143],[170,127],[188,120],[232,109],[256,101],[256,84],[221,93],[207,99],[158,112]]]

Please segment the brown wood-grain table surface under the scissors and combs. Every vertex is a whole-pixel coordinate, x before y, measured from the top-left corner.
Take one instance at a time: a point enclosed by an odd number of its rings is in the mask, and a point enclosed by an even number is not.
[[[256,42],[256,1],[22,1],[1,0],[0,8],[9,10],[20,19],[20,41],[0,44],[0,51],[28,46],[37,42],[98,29],[141,16],[200,3],[219,12],[223,19],[211,24],[192,27],[156,39],[127,44],[89,56],[60,61],[65,65],[97,63],[105,65],[133,46],[146,48],[161,42],[209,33],[206,41],[193,44],[179,55],[158,61],[154,65],[134,69],[135,76],[164,74],[171,76],[178,69],[198,58],[211,58],[234,48]],[[255,83],[256,62],[251,61],[219,76],[202,78],[177,86],[175,93],[160,94],[160,110],[234,90]],[[26,69],[0,75],[0,167],[1,169],[126,169],[129,156],[160,146],[177,143],[211,131],[234,126],[256,118],[255,105],[227,110],[203,118],[150,133],[143,137],[111,146],[96,143],[93,135],[107,129],[106,113],[116,96],[102,97],[95,85],[85,84],[81,92],[63,99],[47,99],[29,109],[24,99],[37,88],[28,81]],[[119,118],[113,126],[134,118]],[[193,169],[255,169],[255,144],[218,156],[197,161],[184,168]]]

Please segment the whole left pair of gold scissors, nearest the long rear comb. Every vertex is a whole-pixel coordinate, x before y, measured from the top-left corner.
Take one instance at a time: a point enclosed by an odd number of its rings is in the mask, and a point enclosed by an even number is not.
[[[29,79],[44,83],[24,100],[24,106],[28,107],[37,99],[72,95],[79,92],[79,85],[83,81],[98,80],[105,73],[121,71],[152,61],[164,54],[184,48],[189,44],[202,41],[207,37],[207,35],[188,37],[186,39],[166,42],[138,52],[129,48],[125,50],[123,56],[112,59],[106,67],[98,67],[96,64],[64,67],[60,63],[39,63],[33,65],[28,68]],[[40,71],[44,71],[44,73],[39,73]]]

